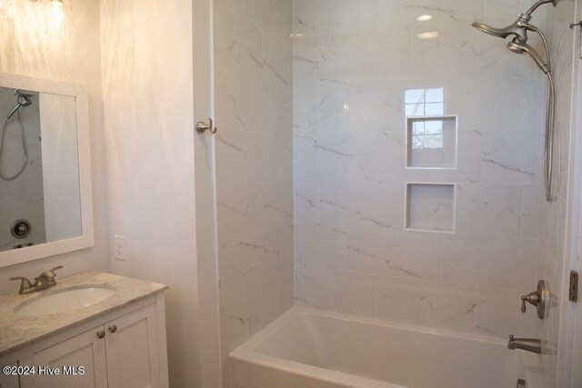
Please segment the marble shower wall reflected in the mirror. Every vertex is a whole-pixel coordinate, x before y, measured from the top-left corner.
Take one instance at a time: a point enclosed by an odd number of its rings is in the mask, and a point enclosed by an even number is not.
[[[15,106],[12,89],[0,88],[0,112],[2,123],[5,115]],[[25,171],[14,180],[0,179],[0,251],[13,249],[16,244],[42,244],[46,242],[45,201],[43,192],[43,159],[40,136],[40,113],[38,96],[32,97],[33,104],[22,109],[20,117],[25,130],[25,145],[28,162]],[[5,139],[0,168],[4,174],[11,176],[19,171],[23,162],[20,128],[15,116],[5,128]],[[0,124],[2,124],[0,123]],[[31,233],[25,239],[16,239],[10,233],[10,225],[18,219],[30,222]]]

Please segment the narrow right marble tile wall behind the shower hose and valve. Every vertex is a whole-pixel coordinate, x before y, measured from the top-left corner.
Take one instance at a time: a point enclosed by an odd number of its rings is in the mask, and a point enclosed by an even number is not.
[[[556,174],[554,174],[554,190],[552,202],[547,203],[545,194],[540,193],[540,244],[536,276],[546,279],[550,292],[555,296],[555,304],[549,317],[544,321],[536,321],[534,327],[535,335],[542,338],[547,343],[549,352],[542,356],[541,373],[543,386],[561,386],[560,376],[557,367],[563,361],[564,352],[557,349],[565,348],[565,336],[559,336],[560,313],[563,306],[562,301],[567,295],[561,295],[563,288],[562,279],[566,261],[567,242],[567,202],[568,191],[572,190],[568,185],[568,175],[570,161],[573,154],[570,149],[570,136],[572,119],[572,81],[573,81],[573,58],[575,55],[575,36],[572,30],[568,29],[570,23],[576,23],[576,5],[574,0],[562,0],[557,7],[548,10],[547,13],[547,37],[552,49],[554,61],[554,77],[557,87],[556,100]],[[575,65],[577,67],[577,65]],[[558,382],[558,383],[557,383]]]

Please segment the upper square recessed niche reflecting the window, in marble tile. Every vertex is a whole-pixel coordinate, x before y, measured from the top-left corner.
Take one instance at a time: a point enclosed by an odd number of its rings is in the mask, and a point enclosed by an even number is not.
[[[406,117],[407,168],[457,168],[457,116]]]

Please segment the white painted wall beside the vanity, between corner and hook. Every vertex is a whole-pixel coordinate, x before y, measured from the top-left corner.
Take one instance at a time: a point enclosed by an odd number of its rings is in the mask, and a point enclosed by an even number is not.
[[[169,285],[170,383],[199,379],[192,5],[104,0],[101,44],[111,234],[125,235],[116,274]]]

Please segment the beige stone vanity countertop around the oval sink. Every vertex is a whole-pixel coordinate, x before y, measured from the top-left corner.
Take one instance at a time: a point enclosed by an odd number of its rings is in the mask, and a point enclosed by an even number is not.
[[[55,281],[55,287],[36,293],[21,295],[15,290],[0,294],[0,356],[167,289],[165,284],[98,271],[57,276]],[[115,293],[104,301],[66,313],[41,316],[18,316],[14,313],[15,307],[25,301],[63,290],[84,288],[87,285],[115,288]]]

